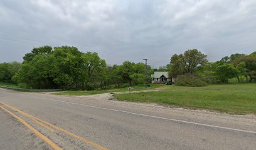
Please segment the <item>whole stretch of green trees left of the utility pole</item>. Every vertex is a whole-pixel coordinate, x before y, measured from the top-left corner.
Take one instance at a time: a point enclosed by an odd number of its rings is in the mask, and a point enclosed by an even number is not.
[[[151,67],[147,69],[151,74]],[[77,47],[42,46],[25,54],[23,63],[3,63],[0,70],[0,81],[21,88],[93,90],[142,84],[145,66],[130,61],[110,66],[97,53],[82,53]]]

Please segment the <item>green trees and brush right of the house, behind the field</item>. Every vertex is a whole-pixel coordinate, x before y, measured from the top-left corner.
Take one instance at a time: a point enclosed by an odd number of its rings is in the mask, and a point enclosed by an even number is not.
[[[183,54],[174,54],[166,66],[169,77],[178,78],[178,84],[202,86],[211,83],[228,83],[228,79],[237,82],[256,81],[256,51],[252,54],[231,54],[220,61],[210,63],[206,54],[190,49]],[[200,85],[198,85],[200,86]]]

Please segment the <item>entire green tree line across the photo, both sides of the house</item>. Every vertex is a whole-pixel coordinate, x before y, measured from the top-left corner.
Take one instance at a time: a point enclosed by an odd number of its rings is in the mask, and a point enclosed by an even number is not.
[[[206,54],[189,49],[171,56],[170,63],[158,69],[147,67],[147,83],[154,71],[168,71],[181,86],[256,81],[256,52],[231,54],[210,63]],[[78,51],[72,46],[34,47],[23,63],[1,63],[0,81],[17,83],[21,88],[93,90],[120,88],[145,82],[145,64],[124,61],[107,65],[97,53]]]

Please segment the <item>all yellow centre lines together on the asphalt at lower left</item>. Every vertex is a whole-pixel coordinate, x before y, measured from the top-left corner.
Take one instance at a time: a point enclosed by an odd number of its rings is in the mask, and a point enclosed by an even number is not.
[[[27,113],[24,113],[23,111],[19,110],[19,109],[16,109],[16,108],[13,108],[11,106],[8,106],[7,104],[4,104],[4,103],[1,103],[3,106],[6,106],[7,108],[13,110],[13,111],[16,111],[20,114],[23,114],[24,116],[26,116],[27,118],[35,121],[35,123],[39,124],[40,126],[48,129],[49,131],[51,132],[54,132],[53,129],[51,128],[54,128],[54,129],[57,129],[59,131],[62,131],[63,133],[66,133],[70,136],[73,136],[73,138],[76,138],[76,139],[80,139],[81,141],[83,141],[84,143],[87,143],[87,144],[90,144],[92,146],[94,146],[95,148],[99,148],[101,150],[107,150],[107,148],[104,148],[103,146],[100,146],[99,144],[96,144],[96,143],[93,143],[92,141],[89,141],[88,139],[85,139],[85,138],[82,138],[80,136],[77,136],[73,133],[70,133],[69,131],[66,131],[65,129],[62,129],[62,128],[59,128],[58,126],[55,126],[51,123],[48,123],[46,121],[43,121],[41,119],[38,119],[36,118],[35,116],[32,116],[31,114],[27,114]],[[57,146],[55,143],[53,143],[53,141],[51,141],[50,139],[48,139],[46,136],[44,136],[43,134],[41,134],[39,131],[37,131],[35,128],[33,128],[32,126],[30,126],[28,123],[26,123],[26,121],[24,121],[23,119],[19,118],[18,116],[16,116],[16,114],[14,113],[11,113],[11,111],[8,111],[8,109],[6,108],[3,108],[3,106],[0,106],[1,109],[3,109],[4,111],[6,111],[7,113],[11,114],[11,116],[13,116],[14,118],[18,119],[18,121],[20,121],[21,123],[24,124],[24,126],[26,126],[27,128],[29,128],[31,131],[33,131],[33,133],[35,133],[39,138],[43,139],[43,141],[45,141],[46,143],[48,143],[53,149],[56,149],[56,150],[60,150],[61,148],[59,146]],[[48,126],[46,126],[45,124],[47,124]]]

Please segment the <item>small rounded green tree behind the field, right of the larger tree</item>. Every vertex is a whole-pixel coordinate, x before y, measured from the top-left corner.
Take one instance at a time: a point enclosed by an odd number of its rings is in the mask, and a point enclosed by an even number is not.
[[[223,64],[216,68],[216,76],[221,83],[228,83],[228,79],[238,76],[238,70],[232,64]]]

